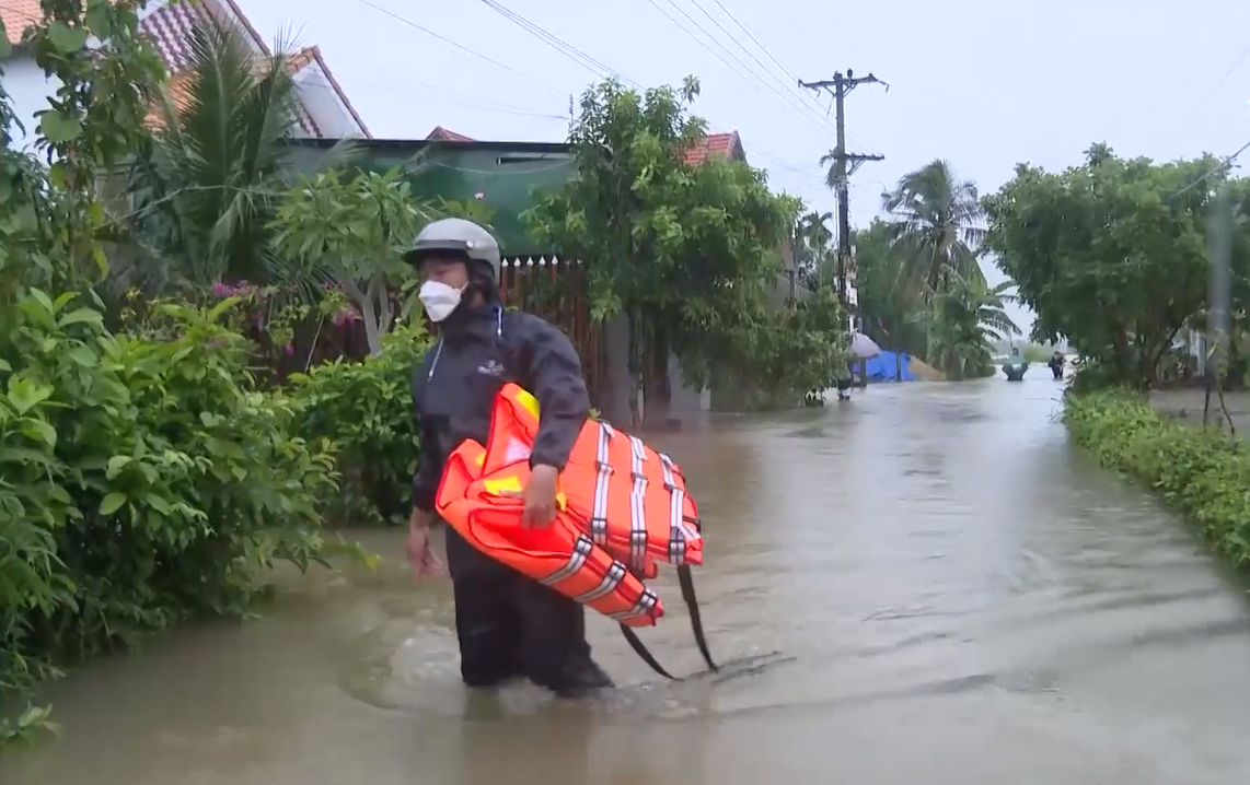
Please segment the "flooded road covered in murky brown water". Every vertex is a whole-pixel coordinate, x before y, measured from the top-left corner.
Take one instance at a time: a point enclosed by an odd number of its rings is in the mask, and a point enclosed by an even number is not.
[[[591,618],[622,688],[460,686],[450,589],[386,555],[284,577],[262,618],[154,640],[52,688],[59,741],[5,785],[1230,785],[1250,781],[1244,588],[1099,471],[1041,374],[882,384],[656,441],[706,522],[714,654],[662,684]],[[699,670],[675,582],[642,636]],[[798,781],[798,780],[790,780]]]

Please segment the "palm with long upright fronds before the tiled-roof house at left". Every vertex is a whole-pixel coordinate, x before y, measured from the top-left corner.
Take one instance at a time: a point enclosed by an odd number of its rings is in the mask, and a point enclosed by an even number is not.
[[[286,142],[300,111],[288,51],[258,57],[235,25],[192,30],[190,64],[162,91],[158,127],[130,162],[136,255],[118,271],[125,286],[155,295],[282,277],[270,223],[294,178]]]

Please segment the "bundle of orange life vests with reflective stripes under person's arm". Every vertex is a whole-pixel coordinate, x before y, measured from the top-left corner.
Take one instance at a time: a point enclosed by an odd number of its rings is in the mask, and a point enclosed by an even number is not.
[[[439,514],[486,555],[620,622],[630,645],[665,676],[629,628],[654,625],[664,614],[642,580],[655,577],[659,560],[678,565],[695,639],[715,670],[689,572],[702,563],[701,524],[680,468],[636,437],[588,421],[560,472],[555,520],[525,528],[520,495],[538,431],[538,399],[505,384],[486,444],[465,441],[448,458]]]

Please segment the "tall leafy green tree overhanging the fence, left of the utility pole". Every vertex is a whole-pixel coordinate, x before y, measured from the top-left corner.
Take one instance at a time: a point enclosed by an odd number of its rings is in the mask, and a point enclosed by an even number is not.
[[[768,301],[800,210],[744,162],[686,162],[706,132],[689,114],[698,95],[694,77],[588,90],[570,131],[578,175],[526,213],[536,241],[586,260],[595,317],[629,319],[631,372],[661,409],[670,351],[705,386],[779,339],[761,333],[778,321]]]

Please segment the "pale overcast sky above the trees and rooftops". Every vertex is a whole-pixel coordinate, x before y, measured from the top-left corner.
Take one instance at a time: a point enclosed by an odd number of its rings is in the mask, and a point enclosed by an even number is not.
[[[570,96],[598,79],[482,0],[239,2],[262,35],[320,45],[380,139],[442,125],[479,140],[562,141]],[[1245,0],[494,5],[629,81],[699,76],[695,114],[741,134],[775,188],[821,210],[834,210],[816,163],[834,146],[832,116],[828,96],[794,82],[876,74],[889,91],[861,86],[848,99],[848,147],[885,156],[852,181],[852,223],[879,212],[884,186],[935,157],[985,192],[1018,162],[1062,168],[1094,141],[1160,160],[1250,141]]]

